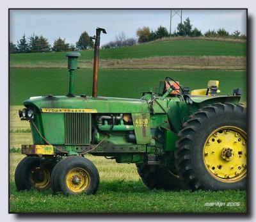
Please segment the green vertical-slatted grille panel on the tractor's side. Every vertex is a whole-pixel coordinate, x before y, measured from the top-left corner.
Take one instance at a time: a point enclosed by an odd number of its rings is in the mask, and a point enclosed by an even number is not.
[[[91,113],[65,113],[65,144],[88,145],[92,137]]]

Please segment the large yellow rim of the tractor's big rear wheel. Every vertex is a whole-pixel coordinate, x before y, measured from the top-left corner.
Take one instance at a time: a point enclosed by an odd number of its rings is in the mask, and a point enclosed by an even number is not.
[[[237,182],[246,177],[246,132],[226,126],[213,131],[205,141],[203,158],[212,177]]]

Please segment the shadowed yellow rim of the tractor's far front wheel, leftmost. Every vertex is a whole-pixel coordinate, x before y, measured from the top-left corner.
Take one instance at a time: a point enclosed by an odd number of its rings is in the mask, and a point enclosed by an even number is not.
[[[47,189],[51,185],[51,172],[47,168],[33,168],[29,173],[29,181],[36,189]]]

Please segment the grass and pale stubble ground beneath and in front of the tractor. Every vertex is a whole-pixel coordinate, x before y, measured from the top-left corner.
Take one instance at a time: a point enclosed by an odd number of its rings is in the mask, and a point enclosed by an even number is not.
[[[149,190],[141,182],[135,164],[117,164],[90,155],[100,173],[97,194],[65,196],[53,194],[51,189],[17,192],[13,173],[22,158],[20,154],[10,155],[10,212],[246,212],[245,191]],[[212,202],[226,206],[205,207],[205,203]],[[239,202],[239,206],[227,206],[228,202]]]

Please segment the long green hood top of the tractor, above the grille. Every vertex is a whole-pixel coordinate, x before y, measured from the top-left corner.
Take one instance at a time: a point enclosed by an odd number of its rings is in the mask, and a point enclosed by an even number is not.
[[[38,112],[42,109],[93,109],[92,113],[148,113],[147,100],[114,97],[90,96],[47,96],[31,97],[24,106],[33,106]]]

